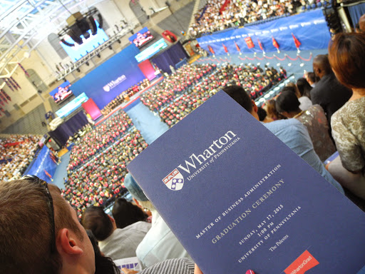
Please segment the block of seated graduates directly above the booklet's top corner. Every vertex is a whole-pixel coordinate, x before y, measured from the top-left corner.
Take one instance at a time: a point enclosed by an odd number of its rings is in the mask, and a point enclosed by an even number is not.
[[[250,97],[255,100],[283,78],[286,78],[284,69],[277,71],[267,66],[263,69],[259,66],[222,64],[193,88],[161,108],[159,115],[161,120],[171,127],[214,95],[219,88],[237,84],[244,87],[250,93]]]

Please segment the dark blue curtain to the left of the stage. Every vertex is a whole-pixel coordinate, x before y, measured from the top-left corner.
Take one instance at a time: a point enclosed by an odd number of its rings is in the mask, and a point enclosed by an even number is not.
[[[88,124],[88,119],[83,111],[59,125],[54,131],[49,131],[51,136],[59,145],[64,146],[70,136],[73,136],[80,128]]]

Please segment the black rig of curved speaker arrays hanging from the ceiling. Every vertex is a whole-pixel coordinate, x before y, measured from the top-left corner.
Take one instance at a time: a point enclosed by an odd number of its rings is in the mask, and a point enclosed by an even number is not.
[[[98,27],[96,26],[94,17],[98,18],[99,29],[102,29],[103,17],[95,7],[86,12],[86,14],[76,12],[76,14],[72,14],[68,17],[68,19],[66,19],[67,26],[58,33],[61,42],[66,46],[75,46],[75,44],[81,45],[83,44],[83,38],[88,39],[90,37],[89,31],[91,31],[92,35],[95,35],[98,32]],[[65,41],[64,36],[66,35],[70,36],[75,44]],[[83,38],[81,36],[83,36]]]

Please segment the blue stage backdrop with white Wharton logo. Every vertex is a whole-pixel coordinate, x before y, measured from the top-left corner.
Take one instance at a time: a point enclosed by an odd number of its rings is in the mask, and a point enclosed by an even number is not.
[[[126,47],[73,83],[73,93],[78,96],[85,92],[88,98],[93,98],[99,108],[103,108],[122,91],[145,78],[134,58],[139,53],[140,50],[134,45]]]

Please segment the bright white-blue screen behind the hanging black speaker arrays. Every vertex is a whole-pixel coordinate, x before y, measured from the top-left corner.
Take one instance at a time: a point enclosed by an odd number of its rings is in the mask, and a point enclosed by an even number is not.
[[[68,56],[71,57],[73,62],[76,62],[86,56],[89,52],[96,49],[98,46],[108,41],[109,37],[106,35],[106,32],[103,29],[99,29],[99,23],[95,20],[96,26],[98,27],[98,32],[96,35],[91,34],[91,30],[88,30],[90,37],[88,39],[83,38],[83,44],[76,44],[70,36],[65,37],[65,41],[70,44],[75,44],[75,46],[66,46],[60,41],[61,46],[66,51]]]

